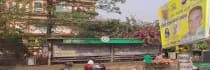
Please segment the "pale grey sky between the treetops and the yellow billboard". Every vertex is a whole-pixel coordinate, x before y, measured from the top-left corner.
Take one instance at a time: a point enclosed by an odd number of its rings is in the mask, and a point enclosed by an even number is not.
[[[99,19],[121,19],[134,16],[137,20],[153,22],[158,19],[158,8],[170,0],[127,0],[124,4],[117,4],[122,14],[107,13],[102,10],[99,12]]]

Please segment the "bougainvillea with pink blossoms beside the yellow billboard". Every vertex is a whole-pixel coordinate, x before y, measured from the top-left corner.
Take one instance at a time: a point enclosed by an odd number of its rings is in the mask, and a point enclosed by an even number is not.
[[[124,33],[124,38],[138,38],[143,41],[142,46],[156,46],[161,47],[160,28],[158,23],[151,23],[151,25],[140,25],[136,27],[134,32]]]

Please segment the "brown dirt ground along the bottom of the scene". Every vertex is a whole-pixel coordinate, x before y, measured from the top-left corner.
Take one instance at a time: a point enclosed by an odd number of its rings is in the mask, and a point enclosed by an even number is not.
[[[143,62],[132,61],[132,62],[114,62],[114,63],[104,63],[109,70],[143,70]],[[85,64],[74,64],[71,70],[84,70],[83,66]],[[56,65],[38,65],[38,66],[0,66],[0,70],[59,70],[63,68],[63,64]],[[170,66],[162,70],[178,70],[176,61],[170,63]]]

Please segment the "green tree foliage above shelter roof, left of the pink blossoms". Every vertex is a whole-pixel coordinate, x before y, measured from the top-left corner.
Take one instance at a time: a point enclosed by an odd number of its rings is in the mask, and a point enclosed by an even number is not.
[[[122,38],[127,30],[133,32],[133,26],[121,22],[120,20],[107,20],[105,22],[81,24],[78,38],[100,38],[109,36],[111,38]]]

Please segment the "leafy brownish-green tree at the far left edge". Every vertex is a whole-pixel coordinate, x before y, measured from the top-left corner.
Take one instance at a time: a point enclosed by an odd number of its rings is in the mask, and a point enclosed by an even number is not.
[[[22,53],[25,49],[22,43],[22,30],[15,29],[14,22],[20,21],[20,17],[25,14],[25,9],[20,8],[19,3],[22,0],[16,0],[14,5],[7,7],[6,0],[1,0],[0,6],[0,50],[10,51],[16,54]],[[19,51],[19,52],[18,52]]]

